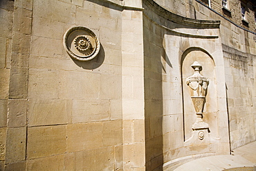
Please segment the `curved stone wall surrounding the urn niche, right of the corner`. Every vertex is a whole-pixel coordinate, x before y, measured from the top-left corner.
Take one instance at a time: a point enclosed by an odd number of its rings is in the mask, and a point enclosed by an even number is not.
[[[234,37],[232,33],[228,33],[228,30],[236,28],[241,33],[241,37],[244,30],[230,24],[200,3],[190,3],[194,9],[192,13],[200,16],[198,14],[205,12],[207,17],[203,19],[208,20],[186,18],[185,16],[193,16],[191,12],[191,14],[186,13],[190,11],[186,3],[188,2],[180,3],[184,9],[181,8],[180,11],[183,13],[179,15],[176,15],[179,12],[175,12],[174,1],[172,4],[150,0],[143,3],[145,147],[146,168],[149,170],[162,167],[172,170],[177,165],[197,157],[229,154],[230,147],[238,147],[255,140],[253,136],[255,127],[250,123],[255,122],[252,121],[255,120],[253,111],[247,111],[246,116],[237,116],[231,103],[234,99],[227,98],[227,94],[233,96],[235,92],[227,89],[226,86],[235,82],[230,82],[230,75],[225,73],[230,69],[230,64],[225,56],[227,50],[224,49],[232,49],[231,47],[234,46],[241,48],[245,45],[230,44],[234,41]],[[232,28],[224,30],[223,27],[228,24],[232,25]],[[253,39],[252,33],[246,32],[246,34],[251,36],[251,40]],[[247,45],[247,49],[255,51],[253,44]],[[247,56],[246,53],[243,54]],[[188,86],[185,85],[185,78],[192,75],[190,65],[194,61],[199,61],[203,65],[202,75],[210,78],[203,109],[203,121],[208,123],[209,130],[203,140],[199,140],[197,138],[199,132],[192,129],[196,116]],[[246,69],[253,69],[250,66],[253,64],[249,61],[238,65],[246,65]],[[246,82],[250,83],[251,76],[240,75],[239,72],[234,73],[233,76],[237,79],[244,77]],[[253,91],[252,88],[249,86],[247,89]],[[241,93],[237,93],[237,98],[238,94],[242,96]],[[248,94],[244,98],[250,103],[253,102],[253,97]],[[246,110],[250,109],[249,105],[246,107],[244,104],[243,107]],[[236,126],[232,123],[234,118],[230,119],[230,117],[234,115],[237,116],[236,121],[240,120],[240,117],[253,117],[244,119],[246,126],[243,127],[250,129],[246,131],[248,137],[237,137],[244,131],[240,129],[238,133],[233,130]],[[239,139],[239,145],[233,141],[235,137]]]

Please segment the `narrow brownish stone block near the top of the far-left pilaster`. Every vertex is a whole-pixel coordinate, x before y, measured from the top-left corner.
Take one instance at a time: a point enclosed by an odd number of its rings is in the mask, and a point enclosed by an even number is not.
[[[13,31],[30,35],[31,33],[32,11],[24,8],[15,8]]]

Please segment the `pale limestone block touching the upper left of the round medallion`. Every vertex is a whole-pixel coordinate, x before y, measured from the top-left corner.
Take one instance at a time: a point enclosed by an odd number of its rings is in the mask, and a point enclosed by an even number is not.
[[[43,17],[33,17],[33,35],[35,36],[62,39],[64,34],[63,28],[64,24],[60,21]]]

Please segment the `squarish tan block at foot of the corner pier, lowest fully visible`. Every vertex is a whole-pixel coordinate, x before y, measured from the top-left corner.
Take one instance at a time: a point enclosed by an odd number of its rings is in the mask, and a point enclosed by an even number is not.
[[[145,165],[145,144],[123,145],[124,168],[143,167]]]

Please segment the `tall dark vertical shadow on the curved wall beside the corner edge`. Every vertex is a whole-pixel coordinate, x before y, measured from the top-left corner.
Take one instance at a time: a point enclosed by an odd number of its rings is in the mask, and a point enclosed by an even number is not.
[[[152,25],[152,27],[157,26]],[[152,39],[161,39],[158,42],[163,42],[163,37],[152,30],[144,27],[144,32],[150,34],[150,38],[145,36],[143,40],[145,52],[145,159],[146,170],[163,170],[164,156],[167,156],[163,144],[163,139],[166,138],[163,132],[163,75],[167,72],[167,67],[172,68],[172,64],[163,44],[151,41]]]

